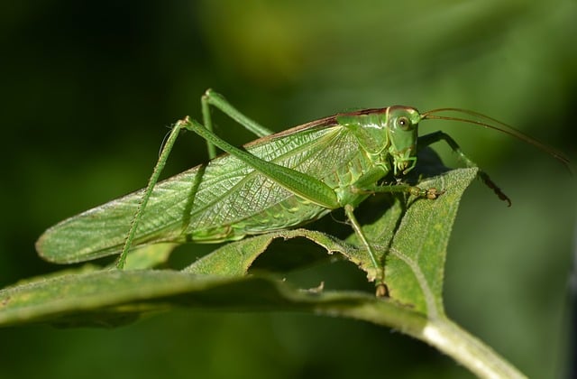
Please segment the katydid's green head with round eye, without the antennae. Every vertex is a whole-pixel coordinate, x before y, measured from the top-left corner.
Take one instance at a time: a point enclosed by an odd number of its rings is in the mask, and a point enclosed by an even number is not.
[[[387,108],[387,133],[389,154],[393,160],[393,171],[406,174],[417,163],[418,122],[421,115],[410,106]]]

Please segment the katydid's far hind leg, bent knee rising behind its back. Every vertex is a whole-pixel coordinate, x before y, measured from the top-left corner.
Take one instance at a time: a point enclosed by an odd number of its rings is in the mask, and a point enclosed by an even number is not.
[[[213,122],[210,116],[210,106],[215,106],[215,108],[220,109],[224,115],[231,117],[238,124],[243,125],[246,130],[256,134],[259,137],[264,137],[270,135],[273,132],[264,126],[252,121],[247,116],[244,116],[238,109],[232,106],[226,99],[213,91],[212,89],[206,89],[205,94],[200,98],[200,103],[202,106],[202,117],[203,123],[206,129],[213,132]],[[213,159],[216,156],[216,146],[210,141],[206,141],[206,147],[208,148],[208,158]]]

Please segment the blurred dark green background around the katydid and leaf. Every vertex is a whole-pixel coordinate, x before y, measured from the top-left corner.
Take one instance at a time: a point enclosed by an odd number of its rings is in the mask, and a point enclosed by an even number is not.
[[[7,3],[0,286],[58,269],[35,239],[143,187],[167,127],[200,117],[209,87],[274,130],[352,107],[459,106],[577,159],[572,0]],[[217,120],[229,141],[251,139]],[[440,127],[513,199],[507,208],[480,183],[468,190],[449,246],[447,312],[529,376],[563,376],[574,177],[504,134],[442,122],[421,133]],[[167,171],[205,159],[187,134]],[[311,285],[359,275],[338,264],[303,274]],[[112,330],[0,329],[0,341],[6,378],[471,376],[395,331],[301,314],[179,310]]]

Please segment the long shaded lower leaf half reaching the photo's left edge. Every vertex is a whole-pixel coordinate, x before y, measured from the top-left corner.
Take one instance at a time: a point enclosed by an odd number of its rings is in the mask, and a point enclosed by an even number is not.
[[[328,303],[327,310],[332,310],[356,307],[365,301],[379,300],[359,292],[296,290],[266,276],[110,270],[61,275],[5,289],[0,292],[0,325],[52,322],[60,326],[116,326],[144,311],[177,306],[320,310]]]

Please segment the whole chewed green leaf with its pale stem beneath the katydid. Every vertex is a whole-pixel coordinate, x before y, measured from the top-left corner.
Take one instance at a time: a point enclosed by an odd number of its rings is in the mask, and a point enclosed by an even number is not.
[[[268,274],[246,275],[275,238],[305,237],[329,254],[342,254],[375,278],[368,254],[355,236],[296,229],[254,236],[224,245],[182,272],[148,268],[166,260],[171,246],[129,258],[133,270],[65,272],[0,291],[0,326],[50,322],[59,326],[114,327],[142,313],[175,307],[221,310],[299,310],[362,319],[417,337],[453,356],[480,375],[522,377],[489,347],[444,316],[446,246],[459,200],[476,177],[461,169],[421,181],[422,188],[444,189],[435,200],[401,199],[363,230],[385,264],[389,298],[355,291],[294,288]],[[321,279],[322,280],[322,279]]]

